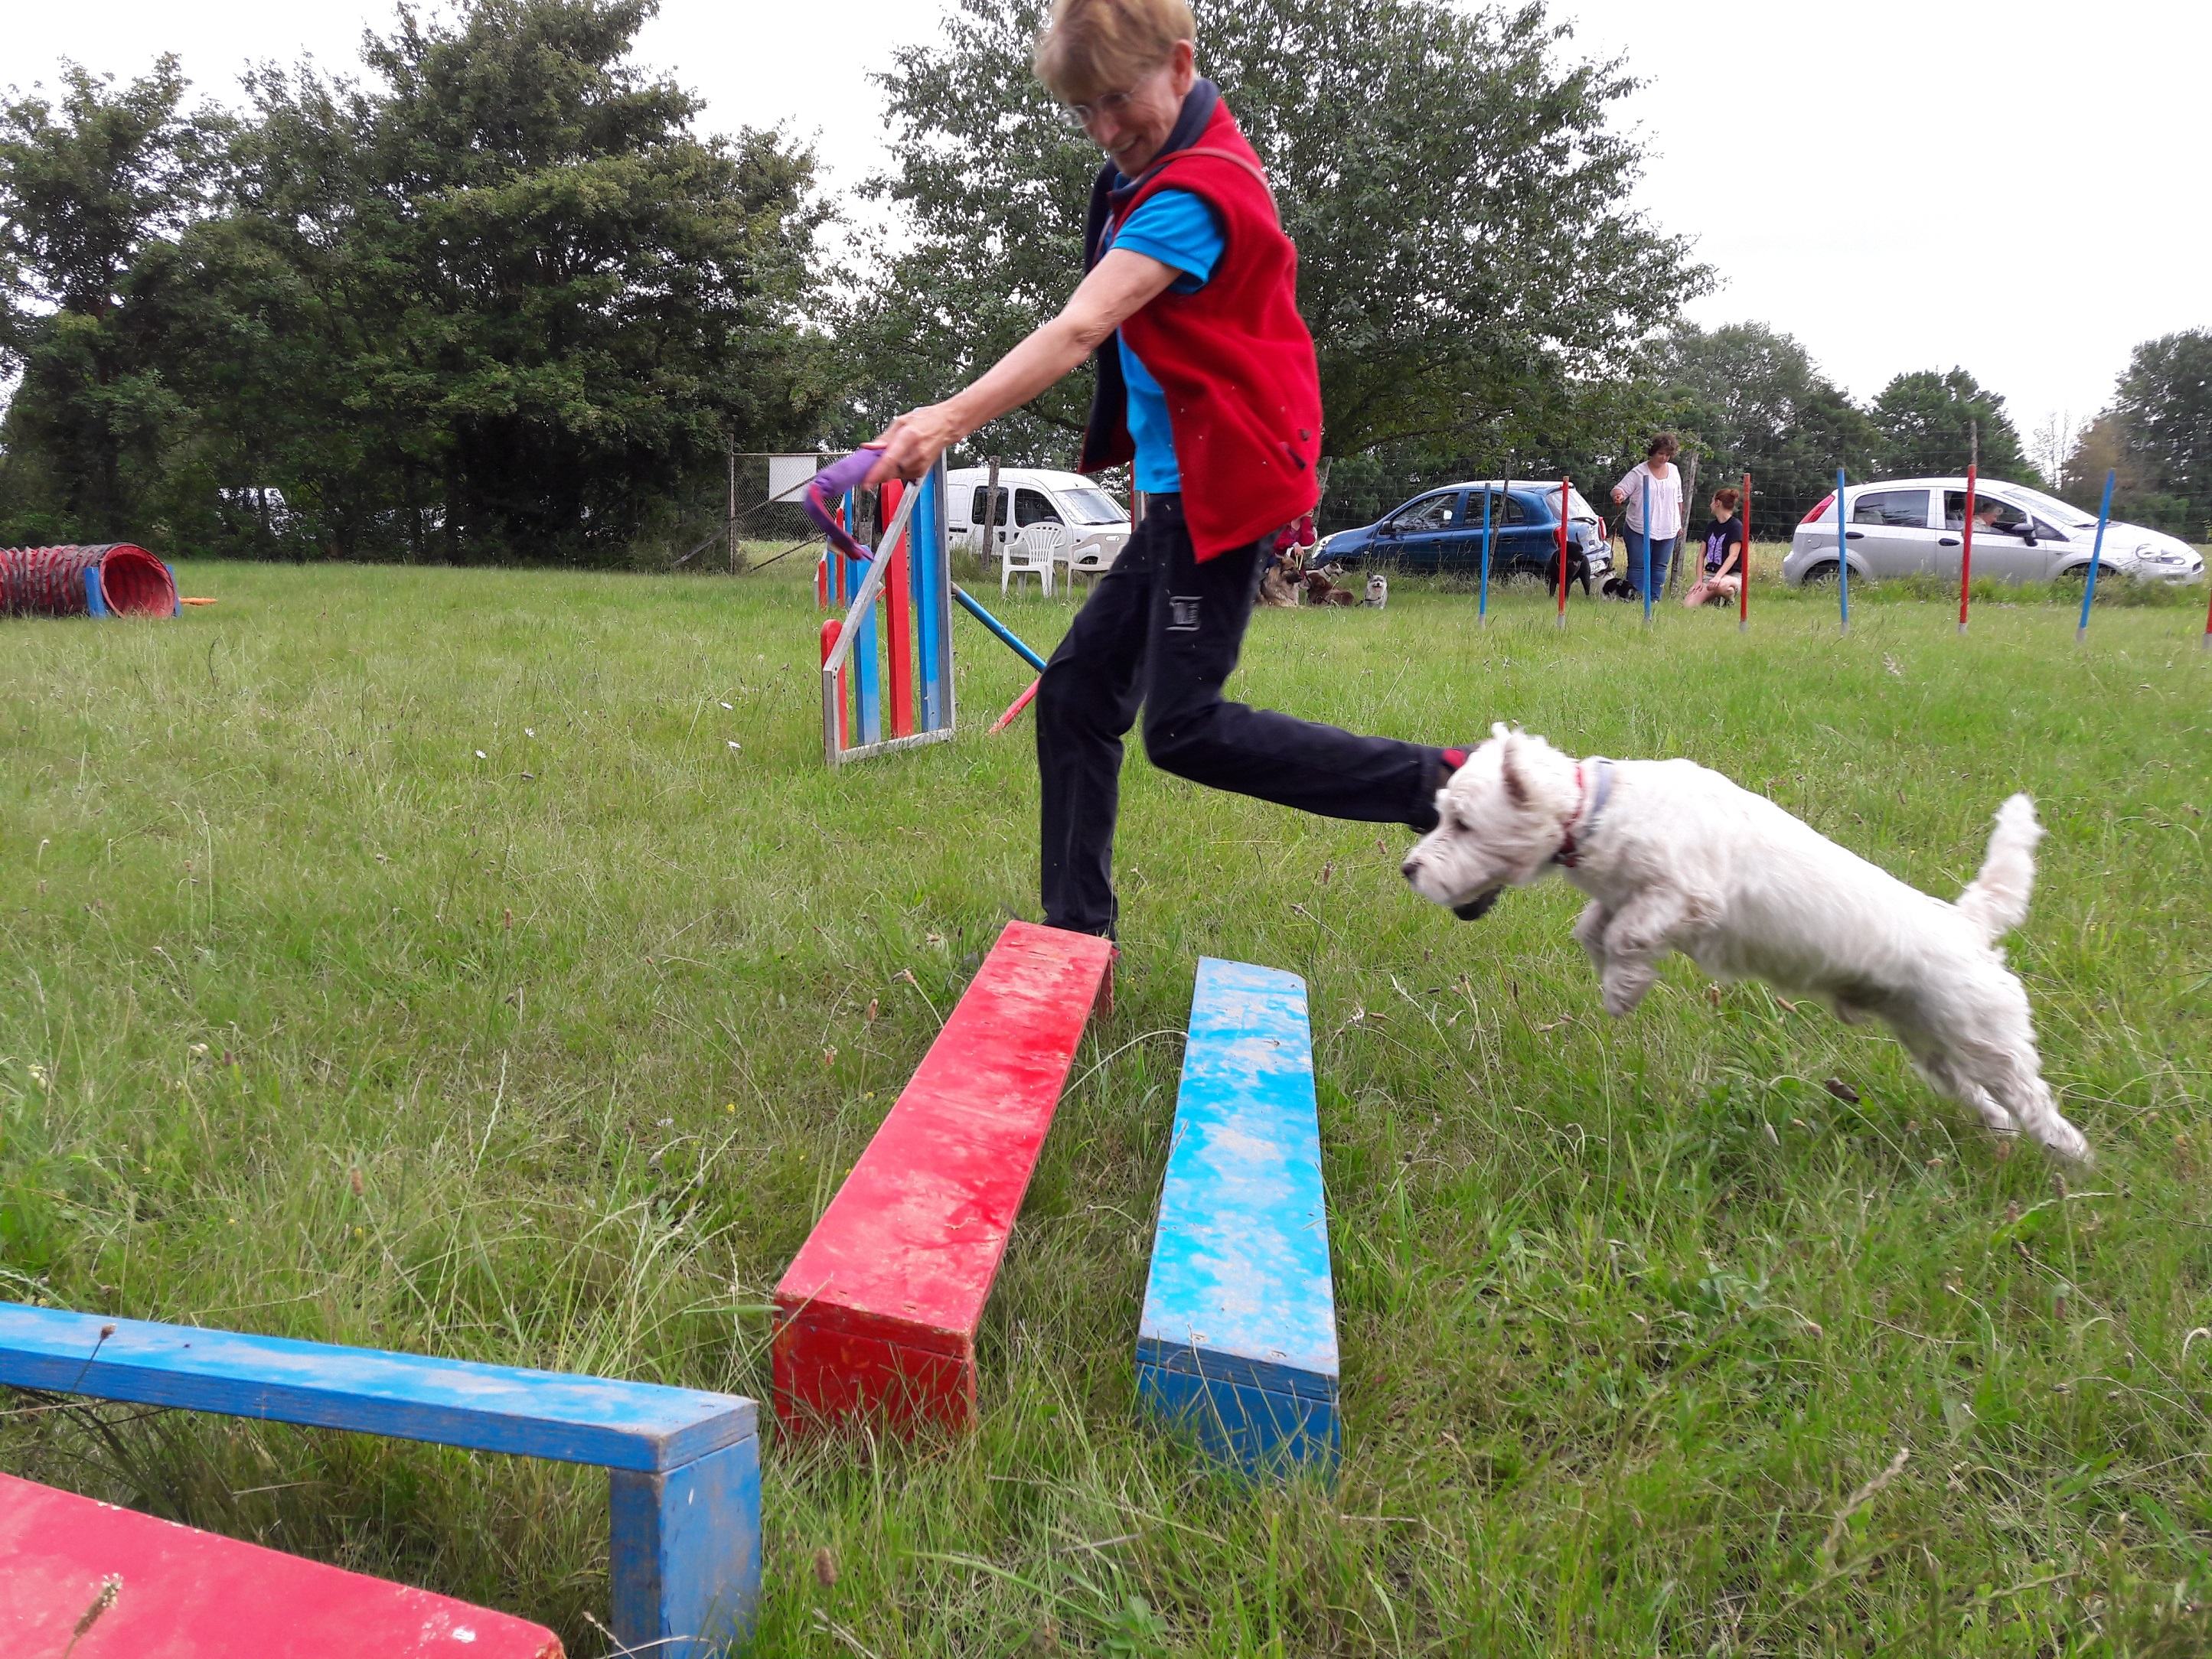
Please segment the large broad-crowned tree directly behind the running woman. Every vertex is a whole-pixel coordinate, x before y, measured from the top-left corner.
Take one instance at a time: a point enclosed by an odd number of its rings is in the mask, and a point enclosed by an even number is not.
[[[1323,453],[1535,445],[1626,378],[1632,347],[1705,283],[1630,206],[1641,148],[1613,133],[1617,64],[1566,58],[1542,4],[1201,4],[1199,64],[1274,179],[1321,354]],[[911,246],[849,319],[856,425],[940,398],[1051,316],[1082,270],[1097,148],[1029,71],[1042,0],[960,0],[942,46],[883,77],[900,166],[876,190]],[[980,445],[1062,458],[1088,380]]]

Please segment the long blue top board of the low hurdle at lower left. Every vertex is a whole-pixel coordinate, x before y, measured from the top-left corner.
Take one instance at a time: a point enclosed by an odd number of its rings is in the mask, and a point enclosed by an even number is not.
[[[0,1383],[606,1469],[675,1469],[757,1433],[734,1394],[20,1303],[0,1303]]]

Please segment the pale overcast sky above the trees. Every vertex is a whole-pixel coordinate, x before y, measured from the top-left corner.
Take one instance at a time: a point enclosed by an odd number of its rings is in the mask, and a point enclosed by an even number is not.
[[[358,62],[363,0],[102,0],[11,7],[0,82],[55,60],[142,73],[184,58],[234,100],[248,60]],[[664,0],[648,64],[708,100],[708,126],[783,122],[836,186],[885,159],[869,69],[936,31],[933,0]],[[1626,55],[1646,88],[1639,206],[1721,276],[1703,323],[1798,336],[1858,396],[1964,365],[2033,436],[2081,420],[2128,349],[2212,325],[2212,4],[2203,0],[1562,0],[1573,51]],[[1203,62],[1203,42],[1201,42]]]

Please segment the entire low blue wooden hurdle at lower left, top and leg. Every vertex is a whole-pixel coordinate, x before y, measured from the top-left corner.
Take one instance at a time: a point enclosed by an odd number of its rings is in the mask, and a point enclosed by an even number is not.
[[[613,1630],[690,1659],[752,1628],[759,1413],[734,1394],[0,1303],[0,1383],[608,1471]]]

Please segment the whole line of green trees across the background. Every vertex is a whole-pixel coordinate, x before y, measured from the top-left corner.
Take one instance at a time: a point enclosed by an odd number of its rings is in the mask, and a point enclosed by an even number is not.
[[[361,84],[177,60],[0,104],[0,542],[630,564],[719,520],[732,449],[845,445],[1064,301],[1097,150],[1029,73],[1046,0],[956,0],[883,73],[907,234],[834,259],[803,144],[697,131],[633,60],[653,0],[462,0]],[[1759,478],[1763,533],[1854,478],[1962,471],[2205,535],[2212,332],[2137,349],[2039,478],[1964,369],[1867,405],[1785,334],[1699,330],[1692,248],[1632,208],[1621,62],[1542,4],[1201,0],[1276,184],[1321,354],[1327,511],[1438,476],[1610,478],[1655,427]],[[958,458],[1064,465],[1086,376]],[[1387,498],[1387,500],[1385,500]],[[1349,522],[1349,520],[1347,520]],[[650,560],[648,560],[650,562]]]

